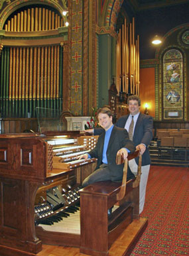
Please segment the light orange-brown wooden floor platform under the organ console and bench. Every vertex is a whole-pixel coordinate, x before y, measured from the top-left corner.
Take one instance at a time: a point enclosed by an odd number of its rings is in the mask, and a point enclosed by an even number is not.
[[[109,256],[129,255],[129,250],[135,245],[143,230],[147,227],[147,219],[140,218],[133,222],[119,235],[117,240],[109,249]],[[137,239],[136,239],[137,238]],[[62,247],[54,245],[42,245],[42,251],[37,256],[84,256],[79,248]]]

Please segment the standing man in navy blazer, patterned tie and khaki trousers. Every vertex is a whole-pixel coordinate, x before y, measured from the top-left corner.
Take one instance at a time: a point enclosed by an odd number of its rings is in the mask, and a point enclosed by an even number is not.
[[[143,155],[141,167],[142,174],[139,185],[139,214],[141,214],[145,204],[145,194],[151,164],[148,147],[153,139],[153,117],[140,112],[141,99],[138,96],[129,96],[127,103],[129,105],[129,115],[123,115],[123,117],[120,117],[115,125],[117,127],[125,128],[129,132],[129,139],[133,141],[136,149],[140,150]],[[133,125],[131,125],[131,122]],[[129,129],[130,125],[133,126],[133,132]],[[95,135],[101,133],[101,129],[94,129],[94,131],[90,129],[86,131],[90,133],[94,132]],[[139,164],[139,158],[129,160],[128,169],[131,169],[134,174],[137,174],[137,164]]]

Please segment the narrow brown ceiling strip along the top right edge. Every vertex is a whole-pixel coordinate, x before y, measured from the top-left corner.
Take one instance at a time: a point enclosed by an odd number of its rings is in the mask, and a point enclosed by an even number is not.
[[[145,9],[155,9],[160,7],[168,7],[170,5],[180,5],[187,3],[188,0],[124,0],[133,7],[133,11],[142,11]]]

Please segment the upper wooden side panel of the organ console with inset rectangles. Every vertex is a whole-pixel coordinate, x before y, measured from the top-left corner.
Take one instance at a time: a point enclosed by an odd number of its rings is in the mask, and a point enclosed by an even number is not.
[[[45,177],[46,159],[47,150],[41,141],[1,139],[0,174],[3,174],[4,177],[9,175],[13,175],[15,178],[22,176]]]

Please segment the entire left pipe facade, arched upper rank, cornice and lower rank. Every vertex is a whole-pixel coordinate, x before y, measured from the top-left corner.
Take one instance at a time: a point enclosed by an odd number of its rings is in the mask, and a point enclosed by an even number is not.
[[[67,28],[62,15],[44,5],[28,6],[8,17],[3,29],[1,115],[36,117],[36,107],[62,111],[68,80],[64,72]]]

